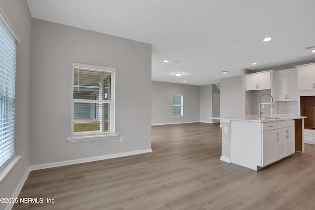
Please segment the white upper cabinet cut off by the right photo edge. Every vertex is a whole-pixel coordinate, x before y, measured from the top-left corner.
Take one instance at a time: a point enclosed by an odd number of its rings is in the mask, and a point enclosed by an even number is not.
[[[315,63],[295,67],[297,68],[298,90],[315,90]]]

